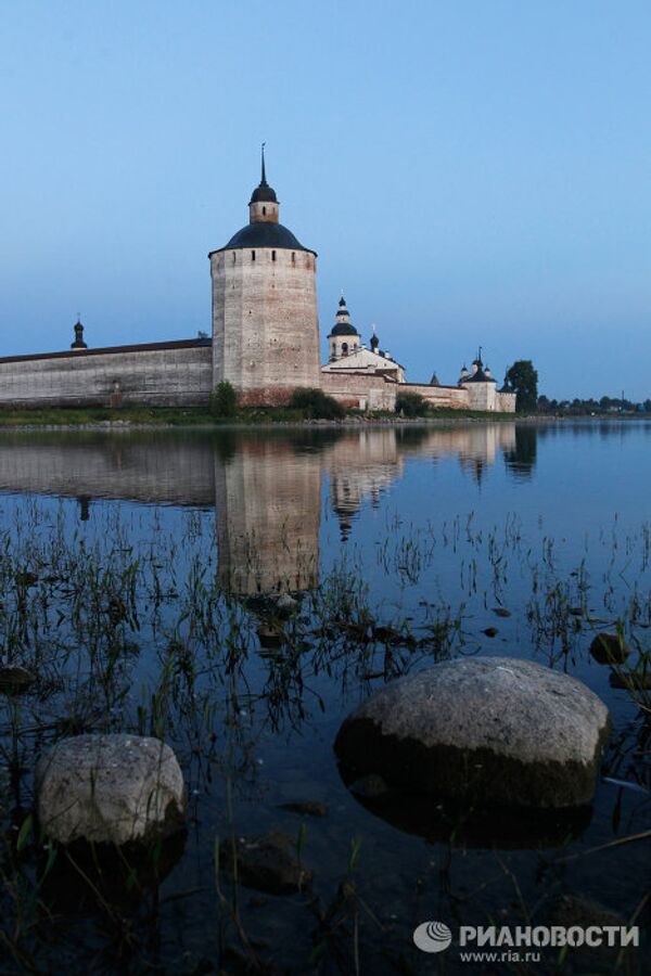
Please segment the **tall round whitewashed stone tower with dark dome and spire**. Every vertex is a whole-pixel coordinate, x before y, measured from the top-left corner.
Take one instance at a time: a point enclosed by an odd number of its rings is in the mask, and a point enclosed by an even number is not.
[[[261,179],[248,223],[213,251],[213,378],[241,403],[283,403],[319,386],[317,255],[279,223],[276,192]]]

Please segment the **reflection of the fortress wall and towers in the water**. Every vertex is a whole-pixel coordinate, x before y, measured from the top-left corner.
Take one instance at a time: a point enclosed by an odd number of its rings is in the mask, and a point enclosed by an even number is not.
[[[215,505],[219,576],[237,595],[319,582],[321,496],[345,541],[365,501],[378,505],[410,458],[457,458],[481,485],[503,457],[531,476],[537,428],[515,423],[448,428],[13,434],[0,438],[0,490]]]

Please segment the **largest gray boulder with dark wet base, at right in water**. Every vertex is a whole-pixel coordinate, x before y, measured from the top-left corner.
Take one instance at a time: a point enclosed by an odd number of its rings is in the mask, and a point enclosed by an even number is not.
[[[572,807],[593,795],[609,730],[608,708],[574,678],[510,657],[458,658],[372,695],[335,750],[408,792]]]

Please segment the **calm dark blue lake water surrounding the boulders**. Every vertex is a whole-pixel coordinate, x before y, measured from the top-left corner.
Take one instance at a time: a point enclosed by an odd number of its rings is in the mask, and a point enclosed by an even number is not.
[[[414,926],[545,921],[561,895],[625,922],[641,906],[648,924],[648,842],[587,851],[649,829],[649,723],[588,647],[617,619],[633,662],[651,645],[650,458],[644,421],[2,435],[3,548],[38,577],[27,599],[39,621],[18,632],[20,594],[5,581],[2,644],[39,679],[0,698],[7,831],[30,808],[35,759],[71,728],[153,728],[190,795],[183,849],[158,886],[120,903],[122,935],[59,865],[25,959],[43,972],[240,972],[215,838],[297,836],[302,823],[311,894],[240,892],[242,926],[277,967],[267,972],[353,973],[356,939],[362,973],[470,972],[451,950],[419,953]],[[88,607],[69,609],[71,552],[94,552],[117,575],[120,560],[138,561],[110,675],[85,656]],[[46,557],[58,563],[49,582]],[[278,593],[301,599],[284,627],[270,612]],[[388,629],[373,637],[369,620]],[[608,702],[614,730],[592,807],[535,825],[480,811],[464,832],[434,807],[353,796],[332,749],[344,716],[385,681],[456,654],[532,657]],[[279,809],[306,800],[328,814]],[[358,899],[337,900],[353,842]],[[34,850],[21,870],[36,876]],[[227,879],[220,888],[230,902]],[[10,898],[4,916],[13,910]],[[644,972],[642,954],[630,972]],[[531,972],[612,964],[570,956]],[[500,965],[486,972],[529,972]]]

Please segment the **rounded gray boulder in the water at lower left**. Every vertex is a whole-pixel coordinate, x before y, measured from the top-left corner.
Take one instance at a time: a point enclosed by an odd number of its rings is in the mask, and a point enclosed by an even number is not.
[[[36,797],[44,833],[62,844],[164,837],[182,824],[186,809],[175,754],[140,735],[61,740],[37,763]]]

